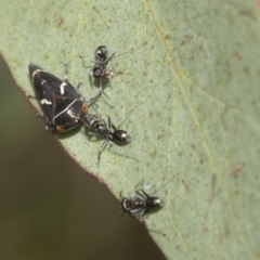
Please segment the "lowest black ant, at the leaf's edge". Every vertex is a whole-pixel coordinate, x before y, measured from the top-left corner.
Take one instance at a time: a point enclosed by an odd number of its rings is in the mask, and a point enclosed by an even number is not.
[[[158,211],[164,206],[164,200],[156,196],[150,196],[144,190],[135,191],[130,197],[122,197],[120,207],[122,214],[130,213],[133,218],[144,219],[150,212]]]

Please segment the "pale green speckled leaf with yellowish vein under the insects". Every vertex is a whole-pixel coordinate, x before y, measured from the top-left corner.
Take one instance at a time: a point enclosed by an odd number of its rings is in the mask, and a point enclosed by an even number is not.
[[[34,94],[29,63],[60,78],[67,63],[69,80],[75,86],[82,81],[80,92],[89,100],[99,89],[90,87],[88,67],[78,55],[93,60],[101,44],[117,51],[112,65],[118,75],[106,89],[115,107],[102,98],[99,113],[113,121],[126,117],[121,128],[132,142],[104,151],[98,168],[102,140],[90,140],[84,128],[57,140],[118,198],[143,181],[166,202],[148,217],[147,229],[168,259],[260,257],[256,4],[1,3],[1,53],[26,95]]]

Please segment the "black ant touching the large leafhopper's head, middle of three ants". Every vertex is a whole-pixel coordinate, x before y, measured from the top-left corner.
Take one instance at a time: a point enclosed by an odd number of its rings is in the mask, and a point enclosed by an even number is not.
[[[99,156],[98,156],[98,165],[100,164],[101,153],[105,148],[108,143],[115,142],[119,143],[129,143],[131,142],[131,135],[125,131],[117,129],[112,122],[110,118],[108,117],[108,125],[106,125],[105,120],[96,115],[93,114],[86,114],[84,122],[89,129],[93,129],[95,132],[89,132],[91,135],[103,135],[106,140],[102,143]]]

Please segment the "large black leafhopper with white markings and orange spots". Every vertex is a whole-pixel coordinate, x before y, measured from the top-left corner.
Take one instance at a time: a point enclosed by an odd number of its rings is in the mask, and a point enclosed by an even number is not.
[[[44,110],[44,115],[38,116],[46,120],[47,130],[66,132],[82,125],[82,118],[88,113],[89,105],[101,95],[100,92],[86,102],[66,76],[62,80],[34,64],[29,64],[29,74],[37,99]]]

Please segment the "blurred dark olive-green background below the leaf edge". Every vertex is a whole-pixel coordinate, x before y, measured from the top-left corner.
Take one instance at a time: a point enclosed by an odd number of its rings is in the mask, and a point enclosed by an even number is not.
[[[2,58],[0,78],[0,259],[165,259],[44,130]]]

